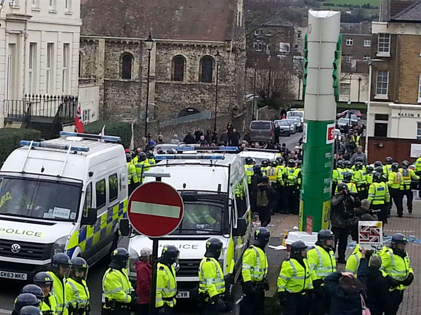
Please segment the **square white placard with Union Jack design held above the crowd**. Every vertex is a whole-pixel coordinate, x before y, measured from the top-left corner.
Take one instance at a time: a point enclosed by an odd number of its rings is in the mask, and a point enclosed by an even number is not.
[[[358,221],[358,244],[360,244],[360,248],[380,250],[383,246],[383,223],[381,221]]]

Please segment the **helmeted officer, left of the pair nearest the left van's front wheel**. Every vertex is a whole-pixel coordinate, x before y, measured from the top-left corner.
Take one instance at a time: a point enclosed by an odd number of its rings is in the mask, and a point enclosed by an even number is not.
[[[67,315],[66,277],[69,276],[72,260],[64,253],[57,253],[51,259],[51,271],[47,271],[53,278],[53,294],[57,297],[57,314]]]

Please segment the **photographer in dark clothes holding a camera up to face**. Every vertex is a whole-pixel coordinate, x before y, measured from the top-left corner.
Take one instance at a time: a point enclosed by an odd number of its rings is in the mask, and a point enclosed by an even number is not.
[[[345,264],[345,250],[354,217],[354,208],[360,207],[358,194],[349,192],[345,183],[338,184],[338,194],[332,197],[330,221],[335,235],[335,248],[338,247],[338,263]],[[339,243],[339,244],[338,244]],[[338,246],[337,246],[338,245]]]

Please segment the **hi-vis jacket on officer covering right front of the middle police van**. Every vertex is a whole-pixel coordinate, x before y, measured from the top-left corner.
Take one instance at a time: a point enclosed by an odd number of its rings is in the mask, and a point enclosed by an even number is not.
[[[199,265],[199,293],[213,297],[225,292],[224,273],[215,258],[205,257]]]

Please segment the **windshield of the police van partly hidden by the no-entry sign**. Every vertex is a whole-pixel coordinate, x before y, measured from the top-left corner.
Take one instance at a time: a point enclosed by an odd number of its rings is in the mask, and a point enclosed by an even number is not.
[[[172,234],[229,234],[228,198],[212,192],[180,192],[183,220]]]

